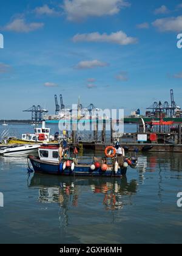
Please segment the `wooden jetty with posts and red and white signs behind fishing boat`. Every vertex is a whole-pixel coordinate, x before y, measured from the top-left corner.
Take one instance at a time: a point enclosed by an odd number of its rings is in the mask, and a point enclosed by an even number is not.
[[[113,136],[113,132],[109,135],[106,134],[106,127],[103,127],[103,131],[98,135],[98,130],[93,131],[92,140],[82,140],[77,137],[76,131],[73,132],[72,146],[79,145],[81,149],[93,149],[95,151],[103,151],[106,146],[110,146],[116,140]],[[182,152],[182,130],[181,124],[171,129],[171,127],[163,126],[157,131],[154,129],[152,132],[142,132],[138,127],[138,132],[124,133],[120,137],[120,143],[128,151],[147,151],[147,148],[151,152]],[[142,141],[140,138],[145,138]],[[117,138],[118,140],[118,138]]]

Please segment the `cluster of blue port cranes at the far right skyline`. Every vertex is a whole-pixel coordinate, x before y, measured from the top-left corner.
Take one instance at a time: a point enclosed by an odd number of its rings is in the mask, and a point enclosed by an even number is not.
[[[147,108],[146,116],[153,118],[181,118],[181,108],[176,104],[174,100],[174,90],[170,90],[170,104],[165,101],[164,104],[160,102],[153,102],[153,104]]]

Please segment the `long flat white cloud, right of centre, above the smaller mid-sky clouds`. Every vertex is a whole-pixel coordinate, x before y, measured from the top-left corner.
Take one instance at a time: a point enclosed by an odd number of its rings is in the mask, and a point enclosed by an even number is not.
[[[137,42],[135,37],[127,37],[123,31],[113,32],[110,35],[99,34],[98,32],[93,32],[90,34],[77,34],[73,37],[73,42],[87,41],[87,42],[99,42],[99,43],[115,43],[120,45],[134,44]]]

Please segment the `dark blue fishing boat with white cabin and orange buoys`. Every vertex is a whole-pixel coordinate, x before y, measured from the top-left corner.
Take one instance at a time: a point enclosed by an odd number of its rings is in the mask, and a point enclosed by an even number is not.
[[[115,150],[113,147],[108,147]],[[93,163],[78,163],[76,158],[63,157],[59,162],[58,146],[41,146],[38,149],[39,157],[29,155],[28,159],[32,163],[33,170],[44,174],[57,174],[64,176],[101,176],[101,177],[121,177],[126,175],[128,162],[133,166],[137,164],[127,159],[123,166],[118,166],[117,162],[112,162],[115,151],[104,162],[94,161]],[[108,155],[109,156],[109,155]],[[112,157],[112,158],[111,158]],[[117,163],[117,164],[116,164]],[[30,169],[30,166],[29,166]]]

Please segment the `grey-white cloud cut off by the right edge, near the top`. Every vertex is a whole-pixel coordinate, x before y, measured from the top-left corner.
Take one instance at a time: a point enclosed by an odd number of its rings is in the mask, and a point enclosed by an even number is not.
[[[180,32],[182,30],[182,16],[158,19],[152,25],[157,27],[161,32]]]

